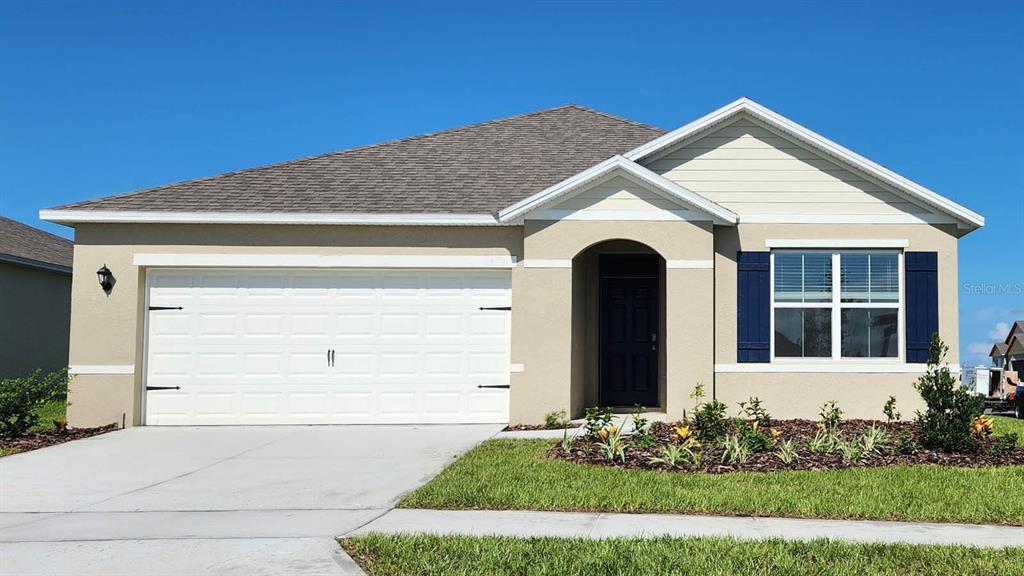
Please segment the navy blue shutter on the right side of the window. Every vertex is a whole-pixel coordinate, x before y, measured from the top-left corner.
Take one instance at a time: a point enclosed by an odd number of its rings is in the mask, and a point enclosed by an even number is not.
[[[928,362],[932,335],[939,331],[939,255],[903,254],[906,279],[906,361]]]

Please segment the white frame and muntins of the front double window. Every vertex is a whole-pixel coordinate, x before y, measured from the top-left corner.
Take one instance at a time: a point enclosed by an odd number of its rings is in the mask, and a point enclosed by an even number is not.
[[[831,283],[833,283],[833,298],[828,302],[776,302],[775,301],[775,254],[779,251],[799,251],[802,253],[806,252],[825,252],[831,254]],[[785,250],[772,250],[769,253],[769,266],[768,266],[768,289],[770,291],[770,310],[768,314],[768,349],[770,355],[770,362],[773,364],[800,364],[804,366],[813,366],[815,364],[831,365],[837,363],[842,363],[848,366],[856,366],[857,364],[904,364],[905,362],[905,342],[906,337],[905,326],[905,310],[904,305],[904,292],[905,292],[905,282],[903,281],[903,250],[899,250],[897,256],[898,262],[898,299],[894,302],[843,302],[842,301],[842,283],[840,275],[840,251],[843,252],[869,252],[878,251],[874,247],[860,247],[858,249],[853,248],[800,248],[800,249],[785,249]],[[827,358],[776,358],[775,357],[775,310],[776,308],[822,308],[828,307],[831,311],[831,356]],[[897,349],[895,358],[845,358],[843,357],[843,332],[842,332],[842,314],[843,308],[896,308],[896,338],[897,338]]]

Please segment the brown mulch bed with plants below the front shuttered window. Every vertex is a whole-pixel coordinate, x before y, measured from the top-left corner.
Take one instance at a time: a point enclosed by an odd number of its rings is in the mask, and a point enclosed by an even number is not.
[[[812,420],[774,420],[770,426],[767,426],[782,433],[778,440],[787,439],[793,441],[799,457],[788,464],[783,463],[775,455],[774,449],[754,453],[745,463],[723,463],[723,451],[717,443],[705,443],[702,447],[703,455],[699,466],[652,464],[650,459],[659,454],[662,446],[676,441],[675,424],[652,426],[651,431],[656,439],[656,443],[649,448],[628,446],[626,448],[625,462],[618,460],[614,462],[608,461],[601,454],[597,443],[589,438],[584,438],[582,434],[573,441],[570,453],[566,454],[559,443],[552,447],[548,452],[548,456],[559,460],[618,468],[711,474],[842,469],[892,466],[896,464],[938,464],[965,467],[1024,465],[1024,447],[1021,446],[1017,446],[1012,453],[1001,457],[987,454],[985,447],[992,442],[991,439],[983,440],[980,449],[977,452],[971,453],[933,453],[933,451],[925,448],[920,448],[908,454],[899,453],[896,450],[896,441],[900,436],[909,436],[916,439],[916,426],[912,422],[844,420],[840,425],[840,433],[845,440],[851,441],[862,430],[872,425],[884,428],[889,434],[888,442],[876,448],[874,451],[865,453],[853,461],[844,460],[843,456],[839,453],[819,453],[808,448],[807,439],[812,438],[818,430],[818,423]],[[736,424],[731,423],[730,434],[735,433],[735,429]],[[630,444],[631,439],[629,437],[625,438],[627,444]]]

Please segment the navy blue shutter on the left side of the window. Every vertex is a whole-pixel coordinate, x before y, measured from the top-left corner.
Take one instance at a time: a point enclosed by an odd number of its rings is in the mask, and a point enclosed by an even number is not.
[[[771,314],[770,252],[738,252],[736,361],[768,362]]]

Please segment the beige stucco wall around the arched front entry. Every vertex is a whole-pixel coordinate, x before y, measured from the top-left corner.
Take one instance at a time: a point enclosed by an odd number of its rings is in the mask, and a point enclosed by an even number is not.
[[[527,265],[518,265],[512,275],[512,362],[523,365],[522,372],[512,374],[511,420],[517,423],[542,421],[555,410],[579,410],[572,390],[579,394],[585,386],[579,374],[573,377],[573,366],[579,370],[581,363],[572,362],[572,269],[529,268],[530,259],[571,260],[608,240],[640,242],[667,261],[710,260],[714,249],[710,222],[527,220],[523,234]],[[693,384],[713,379],[713,340],[708,337],[714,322],[713,282],[710,269],[666,270],[662,408],[669,414],[681,415]],[[579,297],[579,289],[577,293]]]

